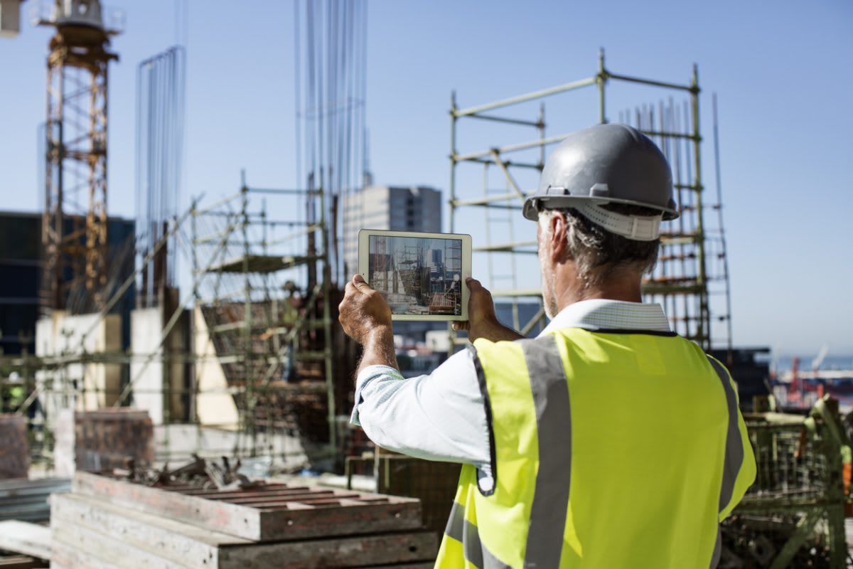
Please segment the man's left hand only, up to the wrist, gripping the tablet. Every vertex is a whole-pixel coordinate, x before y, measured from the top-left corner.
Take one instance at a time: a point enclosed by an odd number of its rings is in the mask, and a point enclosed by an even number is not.
[[[338,306],[338,321],[346,335],[366,344],[370,334],[392,329],[391,308],[361,275],[346,283],[344,299]]]

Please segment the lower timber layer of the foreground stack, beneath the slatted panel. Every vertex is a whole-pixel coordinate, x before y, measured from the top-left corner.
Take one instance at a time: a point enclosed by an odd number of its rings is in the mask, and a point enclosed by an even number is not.
[[[258,543],[76,494],[52,498],[53,556],[61,567],[294,569],[424,563],[435,555],[428,530]],[[363,531],[372,528],[363,527]],[[429,563],[432,566],[432,563]]]

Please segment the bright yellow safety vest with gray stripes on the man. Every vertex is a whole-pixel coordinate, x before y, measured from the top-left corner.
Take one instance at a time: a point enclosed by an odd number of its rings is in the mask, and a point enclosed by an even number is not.
[[[494,487],[462,467],[436,567],[717,566],[755,479],[734,382],[676,334],[477,340]]]

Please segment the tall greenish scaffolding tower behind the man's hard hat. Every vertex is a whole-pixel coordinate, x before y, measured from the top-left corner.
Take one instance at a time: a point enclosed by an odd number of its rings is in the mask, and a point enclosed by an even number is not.
[[[717,335],[711,335],[711,322],[729,321],[728,265],[719,191],[717,203],[709,203],[702,182],[700,90],[695,66],[687,84],[636,78],[609,71],[605,67],[602,50],[598,73],[589,78],[473,107],[458,107],[454,93],[450,106],[450,231],[458,229],[461,217],[469,224],[470,212],[481,209],[485,213],[485,244],[473,247],[474,270],[477,270],[478,258],[481,259],[479,262],[485,261],[492,295],[513,303],[514,328],[527,334],[537,323],[543,323],[545,312],[541,288],[519,282],[519,274],[538,272],[532,264],[536,258],[537,243],[534,239],[516,239],[513,225],[524,200],[536,187],[544,165],[545,149],[561,142],[569,134],[546,135],[543,99],[595,88],[596,119],[603,124],[608,122],[606,97],[611,84],[653,88],[664,92],[666,97],[665,102],[661,100],[657,105],[647,104],[633,111],[618,113],[618,122],[633,125],[652,138],[670,161],[676,202],[681,212],[680,218],[662,225],[659,262],[653,274],[643,282],[644,297],[664,306],[672,328],[682,336],[696,341],[706,350],[712,345],[730,348],[728,327],[722,334],[715,330]],[[676,101],[676,96],[686,97],[686,100]],[[519,118],[502,114],[503,109],[519,105],[537,105],[535,116]],[[577,107],[572,107],[572,110]],[[481,125],[480,131],[475,131],[471,125],[474,122]],[[491,130],[482,136],[484,123],[488,123]],[[462,129],[463,124],[471,125],[471,128]],[[515,133],[519,129],[532,131],[533,136],[516,142]],[[478,140],[480,148],[461,151],[457,145],[463,136],[468,140]],[[496,144],[496,140],[499,143]],[[474,189],[477,184],[471,177],[473,168],[482,169],[482,190]],[[492,172],[501,180],[500,186],[493,182]],[[462,175],[467,175],[467,182],[461,183]],[[528,184],[527,189],[525,184]],[[715,210],[718,213],[716,226],[711,227],[709,221],[714,220],[707,213]],[[712,311],[711,294],[725,295],[727,301],[717,303],[720,306],[715,305]],[[537,299],[540,308],[530,322],[519,322],[519,302],[525,299]],[[456,344],[459,343],[461,340],[456,340]]]

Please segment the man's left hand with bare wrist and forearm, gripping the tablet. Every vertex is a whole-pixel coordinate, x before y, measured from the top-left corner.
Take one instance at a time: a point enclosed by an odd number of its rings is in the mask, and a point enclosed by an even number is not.
[[[363,276],[353,276],[346,283],[344,299],[338,305],[338,312],[338,321],[346,335],[364,346],[357,371],[368,365],[397,368],[391,309],[382,295],[364,281]]]

